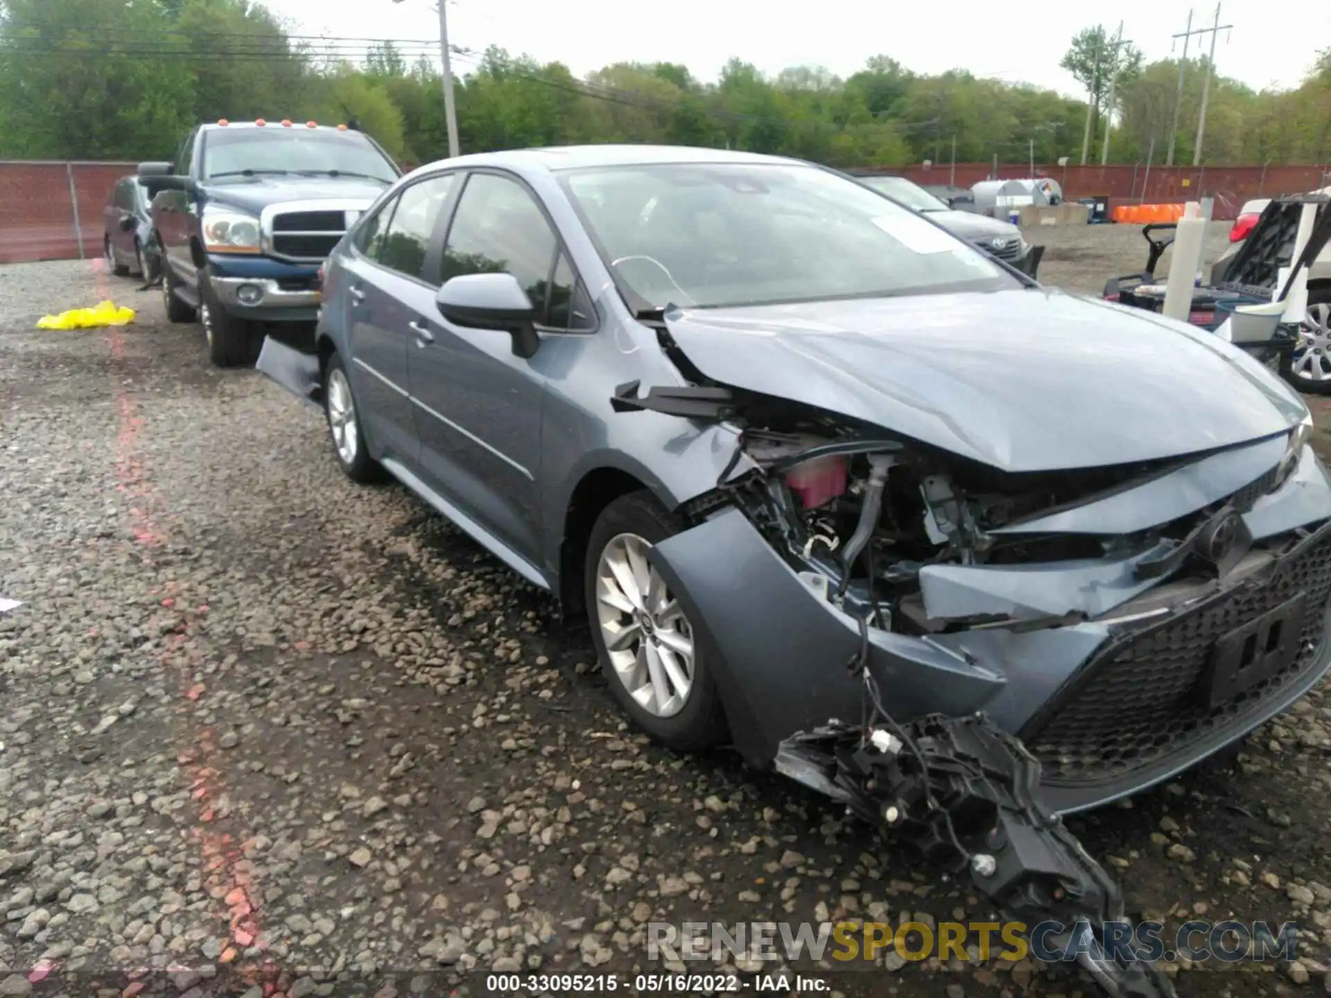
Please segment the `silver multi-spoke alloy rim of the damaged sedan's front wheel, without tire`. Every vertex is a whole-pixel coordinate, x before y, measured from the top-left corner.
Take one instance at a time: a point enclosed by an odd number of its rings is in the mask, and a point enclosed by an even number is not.
[[[693,629],[636,534],[610,539],[596,567],[596,620],[615,676],[648,713],[671,717],[693,688]]]

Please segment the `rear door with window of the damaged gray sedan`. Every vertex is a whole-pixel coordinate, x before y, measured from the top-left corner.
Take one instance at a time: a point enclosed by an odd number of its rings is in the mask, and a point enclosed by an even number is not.
[[[455,173],[426,177],[398,192],[367,218],[351,241],[346,262],[346,330],[357,407],[381,456],[413,471],[417,466],[415,415],[407,378],[411,323],[434,309],[443,209]],[[327,307],[327,306],[325,306]]]

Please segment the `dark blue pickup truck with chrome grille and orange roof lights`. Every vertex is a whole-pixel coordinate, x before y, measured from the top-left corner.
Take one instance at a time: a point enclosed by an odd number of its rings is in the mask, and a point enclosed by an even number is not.
[[[367,134],[313,121],[200,125],[173,162],[142,162],[172,322],[202,323],[220,367],[253,365],[268,330],[313,329],[319,265],[401,176]]]

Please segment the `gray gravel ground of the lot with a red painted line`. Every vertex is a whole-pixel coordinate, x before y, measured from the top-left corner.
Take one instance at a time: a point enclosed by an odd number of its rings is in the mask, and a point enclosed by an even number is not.
[[[1131,228],[1038,238],[1081,291],[1145,258]],[[132,969],[156,973],[126,995],[479,990],[631,973],[648,921],[990,914],[812,794],[627,729],[584,631],[345,480],[313,409],[134,287],[0,267],[0,596],[25,601],[0,616],[0,995]],[[112,294],[136,323],[33,329]],[[1331,993],[1328,749],[1323,687],[1234,764],[1070,820],[1134,917],[1299,922],[1298,965],[1177,967],[1182,995]],[[836,987],[1097,994],[1002,961]]]

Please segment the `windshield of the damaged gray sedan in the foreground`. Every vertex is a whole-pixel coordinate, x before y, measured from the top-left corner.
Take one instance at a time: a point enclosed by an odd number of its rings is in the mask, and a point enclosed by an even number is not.
[[[815,166],[592,168],[560,182],[635,310],[1018,286],[932,222]]]

